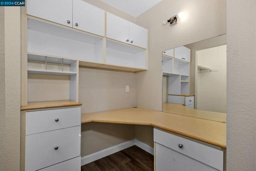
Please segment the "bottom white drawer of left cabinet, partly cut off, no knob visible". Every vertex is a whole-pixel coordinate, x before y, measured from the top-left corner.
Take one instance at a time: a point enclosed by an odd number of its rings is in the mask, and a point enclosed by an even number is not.
[[[40,171],[80,171],[81,170],[81,157],[76,157],[50,167],[41,169]]]

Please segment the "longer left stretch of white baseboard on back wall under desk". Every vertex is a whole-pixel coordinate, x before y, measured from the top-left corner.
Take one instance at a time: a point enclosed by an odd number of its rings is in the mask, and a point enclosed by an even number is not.
[[[112,147],[103,149],[101,151],[98,151],[96,153],[92,153],[90,155],[86,155],[84,157],[81,157],[81,166],[82,165],[86,165],[88,163],[91,163],[93,161],[96,161],[98,159],[101,159],[103,157],[106,157],[108,155],[114,154],[118,151],[121,151],[123,149],[126,149],[128,147],[132,147],[133,145],[135,145],[135,140],[132,139],[130,141],[126,141],[124,143],[120,143],[118,145],[114,145]]]

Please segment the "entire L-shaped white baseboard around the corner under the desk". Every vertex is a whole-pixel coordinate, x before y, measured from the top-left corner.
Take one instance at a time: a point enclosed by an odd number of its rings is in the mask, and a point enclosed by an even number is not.
[[[98,159],[101,159],[103,157],[106,157],[108,155],[114,154],[114,153],[121,151],[123,149],[126,149],[128,147],[132,147],[133,145],[136,145],[136,146],[140,147],[141,149],[147,151],[148,153],[154,155],[153,147],[150,147],[149,145],[139,141],[138,139],[132,139],[130,141],[126,141],[124,143],[120,143],[118,145],[114,145],[112,147],[98,151],[96,153],[92,153],[90,155],[81,157],[81,166],[91,163],[93,161],[96,161]]]

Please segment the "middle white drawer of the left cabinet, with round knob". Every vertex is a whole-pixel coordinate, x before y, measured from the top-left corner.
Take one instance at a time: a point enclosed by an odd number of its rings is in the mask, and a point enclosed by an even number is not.
[[[80,156],[80,134],[81,126],[76,126],[26,135],[25,170],[35,171]]]

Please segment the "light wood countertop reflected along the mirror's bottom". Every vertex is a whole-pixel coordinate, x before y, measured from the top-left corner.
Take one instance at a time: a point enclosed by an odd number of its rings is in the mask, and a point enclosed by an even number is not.
[[[163,112],[226,123],[226,113],[197,110],[175,103],[163,103],[162,106]]]

